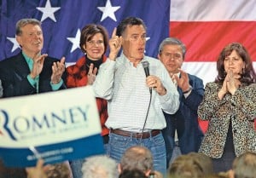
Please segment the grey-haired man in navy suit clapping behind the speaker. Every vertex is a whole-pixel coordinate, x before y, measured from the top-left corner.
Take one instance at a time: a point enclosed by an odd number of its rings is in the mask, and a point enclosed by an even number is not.
[[[185,45],[177,38],[167,37],[160,43],[158,58],[166,66],[180,95],[177,112],[164,113],[166,128],[162,133],[166,141],[167,164],[170,164],[172,157],[177,157],[176,152],[173,152],[175,149],[179,149],[182,154],[198,152],[204,136],[197,115],[197,108],[204,95],[204,85],[201,78],[180,69],[185,53]]]

